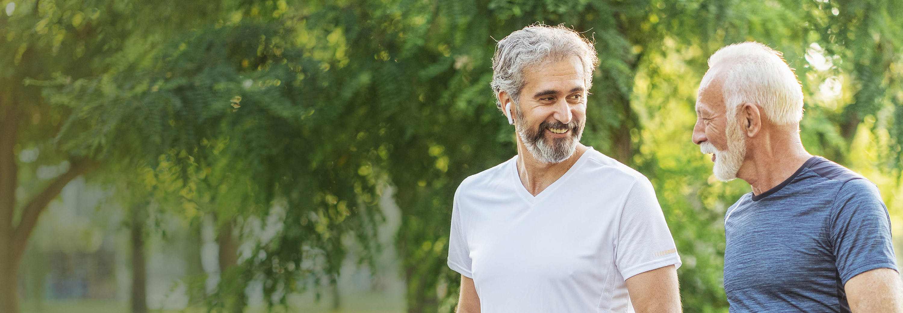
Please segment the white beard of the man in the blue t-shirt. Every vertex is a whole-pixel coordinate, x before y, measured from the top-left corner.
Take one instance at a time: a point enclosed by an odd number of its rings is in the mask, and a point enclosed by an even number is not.
[[[727,127],[728,150],[720,151],[715,145],[704,142],[699,145],[703,153],[715,153],[715,166],[712,171],[715,178],[721,181],[731,181],[737,178],[737,172],[746,158],[746,136],[740,133],[740,123],[731,122],[728,119]]]

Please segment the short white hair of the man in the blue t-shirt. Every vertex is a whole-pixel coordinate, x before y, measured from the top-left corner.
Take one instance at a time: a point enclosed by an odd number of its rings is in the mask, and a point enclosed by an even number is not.
[[[774,124],[796,124],[803,119],[803,87],[779,51],[755,41],[734,43],[709,58],[709,69],[720,68],[721,92],[727,116],[736,119],[737,107],[753,103]],[[703,78],[708,85],[713,77]]]

